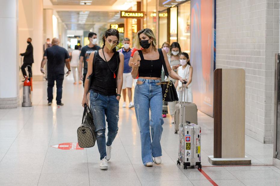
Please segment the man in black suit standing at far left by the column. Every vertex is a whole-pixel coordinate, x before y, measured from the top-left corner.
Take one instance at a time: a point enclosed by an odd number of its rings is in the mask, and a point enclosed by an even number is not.
[[[32,63],[34,63],[33,59],[33,46],[31,44],[32,39],[28,38],[27,39],[27,48],[24,53],[20,53],[21,56],[23,57],[23,65],[21,66],[21,71],[23,74],[23,77],[27,77],[25,68],[27,67],[28,73],[29,73],[29,78],[32,76]],[[24,81],[24,80],[23,80]]]

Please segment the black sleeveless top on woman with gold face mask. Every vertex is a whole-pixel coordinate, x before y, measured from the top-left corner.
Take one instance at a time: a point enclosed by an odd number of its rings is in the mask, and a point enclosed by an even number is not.
[[[108,60],[108,59],[106,59]],[[99,94],[105,96],[116,95],[117,91],[117,81],[114,78],[114,73],[112,71],[115,70],[115,75],[118,75],[118,65],[120,63],[120,55],[119,52],[116,52],[112,58],[106,63],[97,52],[95,64],[93,64],[93,77],[91,80],[90,89]],[[111,68],[109,68],[109,66]]]

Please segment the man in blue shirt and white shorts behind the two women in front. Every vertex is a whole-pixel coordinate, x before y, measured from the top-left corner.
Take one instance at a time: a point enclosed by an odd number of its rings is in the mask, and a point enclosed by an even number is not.
[[[132,85],[133,79],[131,76],[131,67],[128,65],[129,59],[131,56],[131,48],[130,48],[130,39],[124,38],[123,40],[124,47],[119,50],[119,52],[123,53],[124,55],[124,73],[123,73],[123,83],[122,83],[122,95],[124,99],[124,104],[122,107],[126,107],[126,93],[128,94],[128,101],[129,105],[128,108],[134,107],[132,103]],[[127,91],[126,91],[127,90]]]

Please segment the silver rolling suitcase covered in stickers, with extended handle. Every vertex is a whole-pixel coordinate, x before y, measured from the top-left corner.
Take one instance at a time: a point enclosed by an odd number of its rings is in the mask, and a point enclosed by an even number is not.
[[[182,95],[184,93],[184,99],[186,94],[186,84],[182,86]],[[180,108],[185,113],[186,103],[183,101],[183,96],[181,96]],[[201,169],[201,153],[200,153],[200,143],[201,143],[201,128],[198,125],[185,121],[185,115],[181,112],[180,125],[179,125],[179,153],[177,164],[183,164],[184,169],[187,166],[198,166]]]

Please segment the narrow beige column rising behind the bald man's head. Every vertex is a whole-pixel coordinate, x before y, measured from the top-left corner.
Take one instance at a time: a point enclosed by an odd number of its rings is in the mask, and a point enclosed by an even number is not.
[[[53,38],[53,9],[44,9],[44,42]]]

